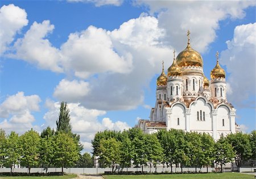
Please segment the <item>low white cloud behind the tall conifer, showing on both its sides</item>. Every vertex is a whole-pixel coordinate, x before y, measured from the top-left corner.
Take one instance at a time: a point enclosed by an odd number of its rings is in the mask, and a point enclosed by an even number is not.
[[[46,121],[44,126],[55,127],[59,115],[60,103],[47,100],[46,106],[49,107],[49,110],[44,115],[44,120]],[[54,108],[52,108],[53,106]],[[104,110],[86,109],[79,103],[68,103],[68,108],[70,110],[72,131],[80,135],[80,141],[84,144],[86,151],[92,149],[90,142],[97,131],[106,129],[122,131],[130,128],[126,122],[113,122],[110,118],[103,118],[100,121],[98,118],[106,114]]]

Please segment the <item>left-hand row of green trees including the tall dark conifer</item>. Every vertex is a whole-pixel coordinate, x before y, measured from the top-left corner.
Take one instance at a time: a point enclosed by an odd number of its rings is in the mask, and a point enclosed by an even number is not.
[[[86,153],[80,155],[82,146],[80,137],[72,133],[67,103],[60,105],[56,131],[47,127],[39,135],[29,130],[23,135],[14,131],[10,135],[0,129],[0,167],[10,167],[11,173],[15,165],[27,167],[92,167],[92,157]]]

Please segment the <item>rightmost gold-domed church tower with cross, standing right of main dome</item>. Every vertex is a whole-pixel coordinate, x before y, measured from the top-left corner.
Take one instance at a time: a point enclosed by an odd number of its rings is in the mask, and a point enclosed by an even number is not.
[[[226,101],[226,80],[225,70],[218,63],[218,52],[216,53],[217,63],[210,72],[210,90],[213,101]]]

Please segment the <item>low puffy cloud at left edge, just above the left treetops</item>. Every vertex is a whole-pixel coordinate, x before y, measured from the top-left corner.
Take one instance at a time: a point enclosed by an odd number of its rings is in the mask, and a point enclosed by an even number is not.
[[[32,112],[39,111],[40,97],[38,95],[24,96],[24,92],[8,96],[0,104],[0,126],[7,133],[16,131],[24,133],[31,128],[40,130],[40,127],[32,125],[35,121]]]

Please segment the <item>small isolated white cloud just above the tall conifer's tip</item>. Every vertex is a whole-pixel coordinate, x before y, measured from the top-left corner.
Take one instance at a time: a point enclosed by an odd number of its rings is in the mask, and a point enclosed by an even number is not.
[[[77,103],[81,102],[80,100],[84,99],[88,92],[90,91],[89,83],[84,81],[69,81],[63,79],[60,81],[58,86],[55,88],[53,96],[67,102]]]

